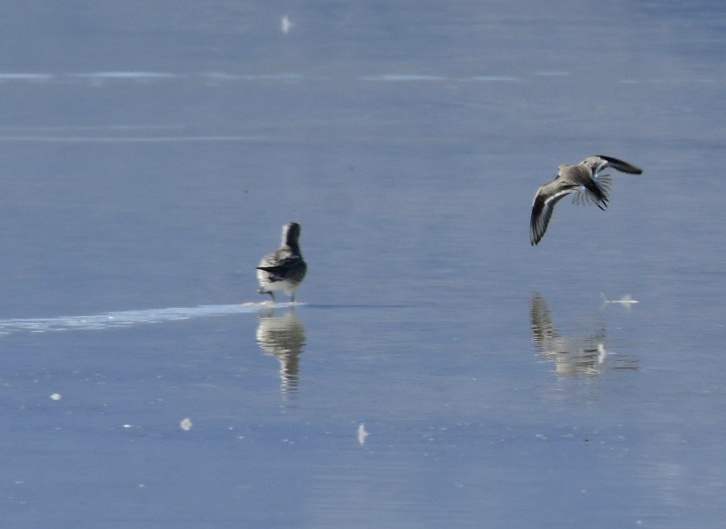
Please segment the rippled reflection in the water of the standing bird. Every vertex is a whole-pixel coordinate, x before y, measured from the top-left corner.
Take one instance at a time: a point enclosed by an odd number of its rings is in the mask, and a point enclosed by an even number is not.
[[[260,313],[257,344],[266,354],[280,362],[283,393],[295,391],[300,373],[300,354],[305,345],[305,328],[293,312],[274,317],[272,312]]]

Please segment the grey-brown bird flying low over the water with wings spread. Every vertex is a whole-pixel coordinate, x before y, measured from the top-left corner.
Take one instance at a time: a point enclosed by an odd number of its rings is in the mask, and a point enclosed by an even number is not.
[[[601,174],[607,167],[632,175],[643,172],[635,165],[603,154],[588,156],[577,165],[563,163],[558,168],[557,178],[540,187],[532,202],[532,217],[529,220],[529,241],[532,246],[542,241],[555,204],[566,195],[574,193],[575,203],[595,204],[603,210],[607,208],[610,175]]]

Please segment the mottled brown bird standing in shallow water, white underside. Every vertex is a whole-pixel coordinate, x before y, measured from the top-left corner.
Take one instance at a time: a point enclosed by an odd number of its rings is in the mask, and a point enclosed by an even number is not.
[[[300,253],[300,225],[289,222],[283,226],[280,249],[262,257],[257,266],[257,280],[260,282],[260,294],[269,294],[275,301],[275,290],[283,290],[295,302],[295,290],[305,279],[308,265],[302,260]]]

